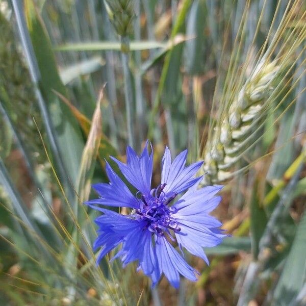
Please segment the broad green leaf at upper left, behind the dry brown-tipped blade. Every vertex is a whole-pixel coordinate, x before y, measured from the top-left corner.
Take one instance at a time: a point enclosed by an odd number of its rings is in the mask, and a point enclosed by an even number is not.
[[[75,183],[84,146],[81,130],[69,108],[59,101],[53,91],[56,90],[66,96],[66,89],[60,79],[52,45],[43,21],[32,0],[26,0],[24,8],[41,76],[40,89],[55,126],[60,153],[68,171],[69,179]]]

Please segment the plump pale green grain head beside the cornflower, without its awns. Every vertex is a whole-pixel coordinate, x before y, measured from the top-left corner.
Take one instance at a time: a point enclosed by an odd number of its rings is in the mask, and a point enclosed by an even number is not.
[[[221,124],[214,128],[213,139],[207,144],[204,171],[211,182],[222,182],[232,177],[231,168],[241,159],[241,154],[257,136],[254,122],[265,118],[265,103],[275,89],[279,75],[276,61],[261,61],[251,77],[233,99]]]

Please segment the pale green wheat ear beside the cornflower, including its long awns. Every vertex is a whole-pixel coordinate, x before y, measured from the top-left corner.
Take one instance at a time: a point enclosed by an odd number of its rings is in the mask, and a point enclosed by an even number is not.
[[[237,58],[242,52],[243,41],[238,39],[235,42],[233,54],[237,53],[237,56],[234,55],[228,65],[223,92],[220,97],[217,92],[214,95],[218,111],[216,122],[210,122],[208,140],[202,152],[205,160],[202,170],[207,174],[204,184],[226,181],[248,167],[241,168],[239,162],[263,137],[262,127],[267,119],[268,110],[275,106],[275,113],[298,84],[300,77],[293,82],[293,76],[298,71],[298,66],[301,67],[305,61],[302,58],[302,44],[306,38],[306,26],[299,22],[303,20],[303,15],[295,14],[297,8],[298,1],[292,6],[288,4],[275,34],[272,37],[271,33],[268,34],[259,54],[255,56],[255,65],[251,64],[254,62],[254,46],[249,46],[242,64]],[[241,35],[246,20],[247,17],[244,15],[241,21]],[[259,25],[260,21],[258,27]],[[250,71],[247,78],[246,71]],[[289,106],[294,101],[293,99]],[[287,110],[288,107],[281,115],[275,115],[273,124]]]

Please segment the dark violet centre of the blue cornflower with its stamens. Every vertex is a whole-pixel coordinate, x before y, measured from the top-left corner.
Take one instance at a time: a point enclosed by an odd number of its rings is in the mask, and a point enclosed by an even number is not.
[[[175,209],[167,206],[177,194],[164,195],[165,186],[166,184],[162,184],[152,189],[148,198],[142,196],[140,209],[136,210],[138,216],[147,221],[148,230],[159,236],[163,236],[165,232],[171,235],[170,230],[175,233],[181,231],[179,224],[171,216]]]

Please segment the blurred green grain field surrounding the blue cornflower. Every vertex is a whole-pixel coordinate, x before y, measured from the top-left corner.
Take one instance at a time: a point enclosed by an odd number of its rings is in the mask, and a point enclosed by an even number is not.
[[[303,0],[0,0],[1,305],[305,305]],[[233,236],[150,290],[82,202],[127,144],[222,183]]]

